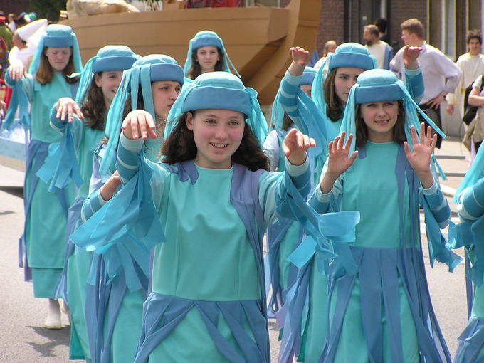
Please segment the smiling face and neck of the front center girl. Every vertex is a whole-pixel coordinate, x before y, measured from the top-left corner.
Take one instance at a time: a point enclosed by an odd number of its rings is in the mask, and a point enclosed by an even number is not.
[[[232,110],[197,110],[187,114],[186,127],[194,133],[195,162],[209,169],[230,169],[231,157],[241,145],[246,121]]]

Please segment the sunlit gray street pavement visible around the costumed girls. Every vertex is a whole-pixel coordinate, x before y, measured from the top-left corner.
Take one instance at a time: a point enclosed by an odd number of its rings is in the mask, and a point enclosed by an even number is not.
[[[444,141],[443,148],[436,154],[441,157],[439,162],[445,172],[465,173],[468,169],[467,150],[456,140]],[[448,156],[454,159],[442,158]],[[461,179],[456,174],[442,181],[449,199]],[[69,362],[68,327],[62,330],[42,327],[47,302],[33,298],[31,284],[23,282],[23,270],[17,267],[17,243],[23,229],[22,182],[23,173],[0,166],[0,362]],[[454,204],[452,209],[453,220],[457,221]],[[453,354],[456,339],[467,321],[464,267],[459,265],[454,273],[448,273],[445,265],[436,264],[430,268],[426,246],[423,246],[423,252],[433,306]],[[274,361],[279,349],[277,335],[274,322],[270,322]]]

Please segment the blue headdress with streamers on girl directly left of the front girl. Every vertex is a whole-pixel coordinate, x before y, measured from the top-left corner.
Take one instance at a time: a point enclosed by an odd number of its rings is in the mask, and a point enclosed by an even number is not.
[[[172,80],[183,85],[185,82],[183,69],[170,56],[152,54],[137,60],[133,63],[132,68],[123,74],[120,87],[107,113],[106,136],[109,137],[109,142],[107,142],[105,157],[100,165],[100,174],[108,174],[110,166],[115,162],[122,116],[128,95],[131,96],[131,110],[137,109],[138,99],[142,97],[144,110],[152,115],[153,120],[156,120],[151,83],[157,80]],[[140,86],[142,95],[139,94]]]

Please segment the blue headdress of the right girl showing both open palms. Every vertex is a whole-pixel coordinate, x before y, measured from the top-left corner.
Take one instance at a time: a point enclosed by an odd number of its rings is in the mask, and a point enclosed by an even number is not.
[[[417,112],[433,127],[433,130],[436,130],[442,137],[446,137],[446,134],[415,103],[406,89],[406,85],[396,78],[394,73],[384,69],[367,70],[358,76],[357,83],[349,91],[340,132],[346,131],[347,135],[356,135],[355,105],[395,100],[404,102],[406,112],[405,135],[410,148],[412,147],[411,126],[415,126],[417,135],[420,133],[420,121]],[[354,152],[355,145],[356,137],[353,138],[350,154]]]

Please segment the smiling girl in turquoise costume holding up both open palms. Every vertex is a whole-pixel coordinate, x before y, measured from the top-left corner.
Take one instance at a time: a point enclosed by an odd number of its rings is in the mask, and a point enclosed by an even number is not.
[[[451,362],[428,293],[419,203],[431,263],[453,270],[461,258],[441,235],[451,211],[432,172],[436,136],[419,127],[417,112],[393,73],[368,70],[349,94],[342,134],[329,145],[310,204],[320,214],[357,210],[360,222],[346,245],[352,263],[339,263],[340,251],[330,266],[320,362]]]

